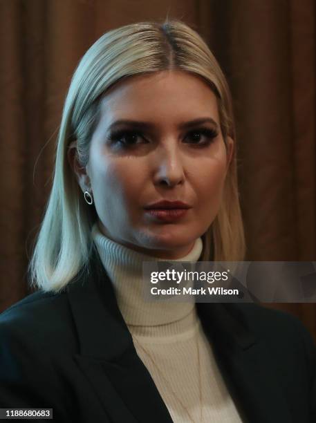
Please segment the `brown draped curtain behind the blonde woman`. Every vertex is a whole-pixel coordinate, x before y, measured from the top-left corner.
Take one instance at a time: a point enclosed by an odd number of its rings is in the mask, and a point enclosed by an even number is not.
[[[28,294],[77,62],[106,30],[167,15],[201,33],[232,89],[247,259],[315,261],[313,0],[1,0],[0,310]],[[316,339],[315,304],[266,306],[296,314]]]

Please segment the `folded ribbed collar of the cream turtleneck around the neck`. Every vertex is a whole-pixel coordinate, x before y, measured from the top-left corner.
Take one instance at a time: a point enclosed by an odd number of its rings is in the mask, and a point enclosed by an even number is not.
[[[92,236],[104,268],[113,283],[120,312],[128,325],[166,325],[181,321],[192,314],[194,301],[148,302],[143,297],[142,262],[167,261],[167,259],[142,254],[111,240],[100,231],[97,223],[93,225]],[[202,238],[197,238],[189,254],[172,261],[196,262],[201,256],[202,249]]]

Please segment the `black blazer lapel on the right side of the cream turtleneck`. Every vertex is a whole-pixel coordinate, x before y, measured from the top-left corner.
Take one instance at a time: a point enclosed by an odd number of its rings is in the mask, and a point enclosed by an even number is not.
[[[198,316],[243,422],[295,423],[281,391],[273,357],[247,328],[239,308],[249,304],[197,303]],[[278,383],[279,382],[279,383]]]

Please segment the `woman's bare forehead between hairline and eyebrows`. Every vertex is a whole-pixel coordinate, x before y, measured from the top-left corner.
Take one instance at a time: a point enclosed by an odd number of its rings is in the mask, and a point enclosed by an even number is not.
[[[167,124],[213,118],[219,123],[216,96],[202,77],[161,71],[122,79],[102,99],[101,120],[141,119]]]

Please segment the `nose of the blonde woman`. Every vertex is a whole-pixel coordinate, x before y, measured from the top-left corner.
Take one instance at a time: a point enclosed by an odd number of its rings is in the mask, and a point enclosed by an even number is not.
[[[183,157],[181,157],[178,147],[171,142],[167,146],[160,146],[155,156],[155,185],[167,185],[174,187],[183,184],[185,171],[183,167]]]

